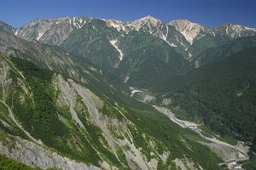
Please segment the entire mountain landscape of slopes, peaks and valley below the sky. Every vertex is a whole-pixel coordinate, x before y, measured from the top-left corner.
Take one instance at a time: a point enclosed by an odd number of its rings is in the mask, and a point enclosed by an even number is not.
[[[234,24],[0,22],[0,167],[253,169],[255,48]]]

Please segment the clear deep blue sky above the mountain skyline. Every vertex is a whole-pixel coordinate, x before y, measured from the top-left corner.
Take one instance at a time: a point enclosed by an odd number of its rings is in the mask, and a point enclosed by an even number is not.
[[[0,0],[0,20],[14,27],[39,18],[137,20],[148,14],[164,22],[188,19],[205,26],[256,27],[255,11],[256,0]]]

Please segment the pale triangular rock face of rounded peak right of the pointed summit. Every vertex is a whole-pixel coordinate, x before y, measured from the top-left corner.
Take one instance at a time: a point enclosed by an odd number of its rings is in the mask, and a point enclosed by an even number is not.
[[[189,20],[172,20],[169,22],[170,26],[174,26],[177,31],[183,34],[191,44],[193,43],[195,37],[203,30],[205,27],[200,24],[191,22]]]

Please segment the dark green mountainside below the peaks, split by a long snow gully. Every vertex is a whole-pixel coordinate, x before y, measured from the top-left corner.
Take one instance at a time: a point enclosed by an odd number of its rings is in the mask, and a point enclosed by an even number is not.
[[[171,41],[177,38],[172,35],[177,34],[177,31],[169,27],[170,33],[166,40]],[[104,20],[91,20],[73,32],[61,44],[61,48],[79,56],[83,62],[88,61],[104,71],[113,71],[114,75],[121,77],[130,86],[150,88],[160,78],[165,79],[189,70],[189,62],[177,53],[176,48],[141,30],[125,34],[107,26]],[[111,41],[115,42],[123,54],[122,60]],[[181,51],[180,47],[178,49]]]

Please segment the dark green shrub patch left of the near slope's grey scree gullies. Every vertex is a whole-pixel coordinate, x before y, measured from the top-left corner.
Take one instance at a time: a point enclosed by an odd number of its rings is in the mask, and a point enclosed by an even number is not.
[[[73,132],[57,116],[57,114],[61,114],[72,120],[71,116],[68,117],[67,108],[60,108],[55,104],[55,89],[51,85],[53,73],[23,59],[12,58],[11,60],[25,75],[26,87],[32,94],[25,95],[22,89],[16,86],[17,84],[9,92],[7,102],[9,105],[13,105],[13,112],[22,126],[33,137],[42,140],[44,144],[58,150],[62,155],[98,165],[99,156],[97,156],[96,150],[90,146],[89,141],[83,138],[82,133],[79,135],[81,143],[86,146],[82,154],[78,150],[74,150],[73,146],[68,143],[69,139],[73,137],[72,134],[79,132],[79,129]],[[12,74],[14,80],[17,80],[16,76],[19,75]],[[17,82],[14,81],[14,83]],[[25,95],[24,102],[20,101],[20,95]]]

